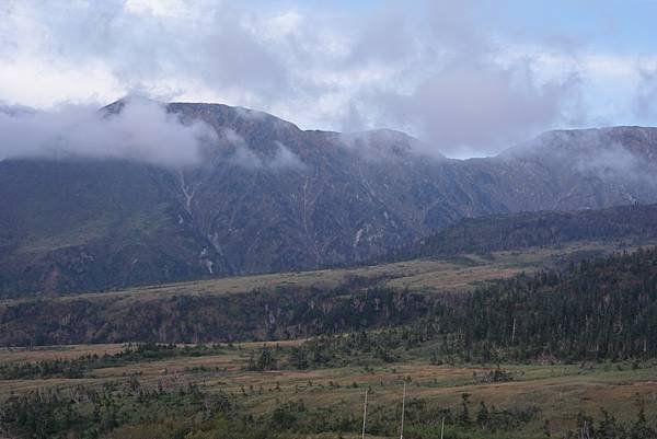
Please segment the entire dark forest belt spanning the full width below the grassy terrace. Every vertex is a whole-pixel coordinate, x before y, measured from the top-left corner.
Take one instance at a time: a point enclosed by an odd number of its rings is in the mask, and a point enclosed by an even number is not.
[[[290,288],[130,300],[129,305],[82,299],[25,302],[0,312],[0,330],[3,344],[16,345],[365,334],[304,345],[295,354],[299,368],[344,365],[353,360],[345,353],[354,349],[394,359],[396,347],[427,342],[436,361],[453,356],[484,362],[657,357],[657,250],[583,261],[563,272],[521,275],[445,297],[385,288]]]

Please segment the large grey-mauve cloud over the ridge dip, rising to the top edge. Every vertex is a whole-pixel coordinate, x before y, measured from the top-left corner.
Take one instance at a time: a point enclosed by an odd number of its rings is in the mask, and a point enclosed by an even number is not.
[[[416,38],[399,25],[368,41],[370,47],[406,42],[414,57],[399,71],[404,86],[361,91],[345,126],[368,115],[370,124],[407,130],[430,150],[471,157],[494,154],[566,120],[581,82],[576,71],[540,78],[531,58],[510,54],[481,25],[471,2],[424,8],[426,19],[414,21]]]

